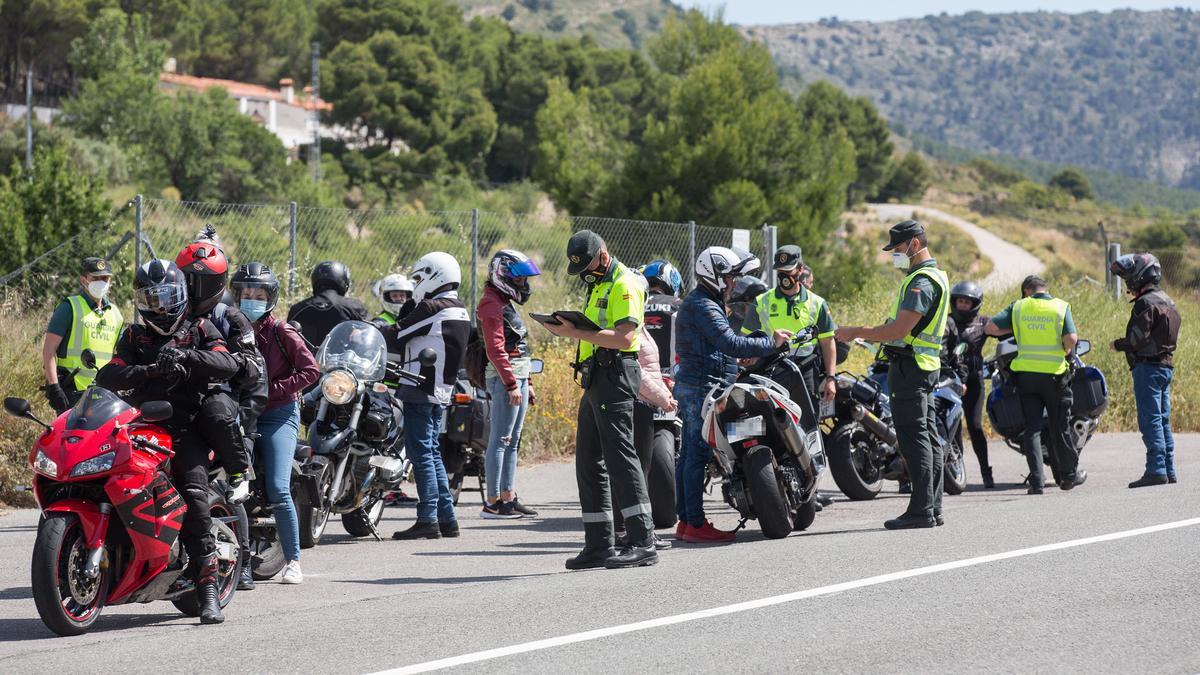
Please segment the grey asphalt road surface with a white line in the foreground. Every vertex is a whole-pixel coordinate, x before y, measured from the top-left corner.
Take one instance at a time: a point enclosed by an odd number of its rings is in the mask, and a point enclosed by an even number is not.
[[[1177,485],[1126,489],[1141,444],[1111,435],[1084,453],[1087,484],[1031,497],[1024,460],[995,443],[1000,488],[948,496],[944,527],[883,530],[904,509],[889,484],[786,539],[751,522],[733,545],[576,573],[574,471],[542,465],[518,474],[536,519],[463,508],[460,539],[419,543],[334,525],[304,552],[302,586],[239,592],[223,626],[154,603],[106,609],[78,638],[37,617],[37,513],[17,512],[0,518],[0,673],[1196,673],[1200,436],[1177,444]],[[385,536],[413,515],[388,509]]]

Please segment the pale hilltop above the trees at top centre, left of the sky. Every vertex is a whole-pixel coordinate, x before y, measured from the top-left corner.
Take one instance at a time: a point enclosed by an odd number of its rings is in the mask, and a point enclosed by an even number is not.
[[[499,17],[515,30],[589,35],[602,47],[641,49],[667,17],[670,0],[455,0],[468,17]]]

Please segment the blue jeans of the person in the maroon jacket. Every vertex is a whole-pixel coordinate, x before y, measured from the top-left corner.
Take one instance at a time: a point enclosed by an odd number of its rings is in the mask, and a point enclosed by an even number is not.
[[[300,525],[292,502],[292,460],[300,435],[300,406],[290,404],[264,412],[258,418],[258,450],[266,485],[266,501],[275,514],[283,557],[300,560]]]

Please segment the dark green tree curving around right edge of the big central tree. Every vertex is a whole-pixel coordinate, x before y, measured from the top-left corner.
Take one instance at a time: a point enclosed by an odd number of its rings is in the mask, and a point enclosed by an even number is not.
[[[871,101],[851,97],[828,82],[814,83],[799,98],[805,119],[820,120],[824,129],[846,130],[854,144],[856,178],[846,195],[847,205],[878,192],[892,168],[892,130]]]

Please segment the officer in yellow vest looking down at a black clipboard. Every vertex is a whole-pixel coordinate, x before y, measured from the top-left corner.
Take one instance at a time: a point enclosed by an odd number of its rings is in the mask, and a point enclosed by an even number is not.
[[[634,448],[634,401],[641,388],[637,340],[646,309],[641,275],[608,253],[599,234],[583,229],[566,244],[570,274],[588,285],[583,313],[600,330],[546,323],[554,335],[580,341],[583,387],[575,432],[575,478],[583,510],[584,546],[568,569],[654,565],[654,522],[642,462]],[[610,494],[610,484],[612,491]],[[625,542],[613,548],[613,512],[625,518]]]

